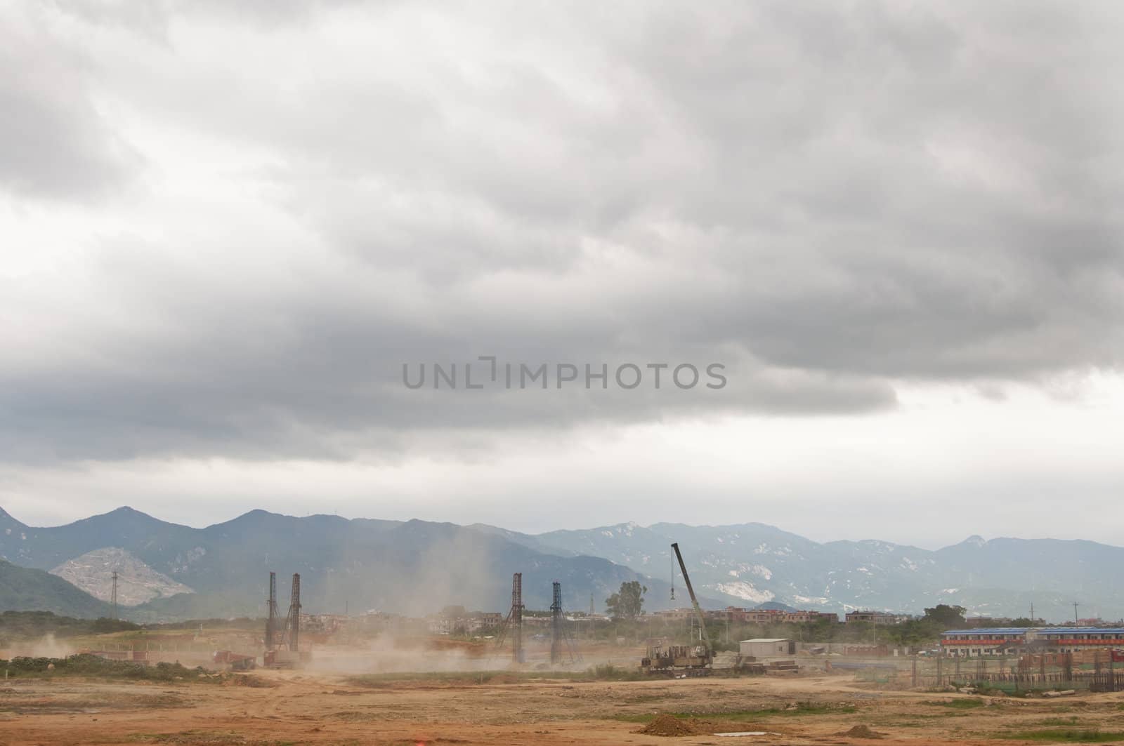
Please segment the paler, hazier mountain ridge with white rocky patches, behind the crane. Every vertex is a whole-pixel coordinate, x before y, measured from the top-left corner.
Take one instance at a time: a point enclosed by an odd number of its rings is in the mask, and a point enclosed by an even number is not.
[[[921,613],[937,603],[972,615],[1068,621],[1124,617],[1124,548],[1086,540],[971,536],[941,549],[879,540],[817,543],[764,524],[620,524],[538,535],[504,534],[543,552],[592,554],[671,577],[678,542],[696,589],[735,606]],[[678,573],[677,573],[678,576]]]

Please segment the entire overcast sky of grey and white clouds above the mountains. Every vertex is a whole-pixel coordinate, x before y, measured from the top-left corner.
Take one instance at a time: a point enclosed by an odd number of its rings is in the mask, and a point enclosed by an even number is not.
[[[0,8],[24,522],[1124,543],[1118,2]]]

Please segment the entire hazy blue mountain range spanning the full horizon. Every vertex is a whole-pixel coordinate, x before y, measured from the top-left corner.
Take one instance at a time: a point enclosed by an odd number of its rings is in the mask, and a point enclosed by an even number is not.
[[[670,599],[672,583],[682,588],[671,542],[679,543],[700,601],[710,608],[769,603],[919,613],[957,603],[979,615],[1026,616],[1033,602],[1036,616],[1064,621],[1079,601],[1087,616],[1124,616],[1117,595],[1124,548],[1082,540],[973,536],[931,551],[878,540],[817,543],[763,524],[620,524],[531,535],[479,524],[264,510],[192,528],[132,508],[37,528],[0,510],[0,557],[12,563],[9,576],[25,567],[66,577],[91,592],[69,586],[89,600],[66,593],[67,603],[89,615],[102,609],[90,601],[108,598],[109,572],[117,568],[123,588],[135,591],[128,598],[119,591],[119,600],[137,603],[123,616],[142,621],[261,615],[271,570],[280,606],[287,606],[289,576],[301,574],[308,612],[422,615],[445,604],[506,611],[514,572],[523,573],[532,609],[550,604],[555,580],[564,606],[577,610],[587,610],[591,597],[602,610],[622,582],[638,580],[649,588],[645,608],[658,610],[686,598]],[[26,591],[27,583],[33,581],[19,585]],[[6,589],[0,585],[0,608],[29,608],[26,593]]]

